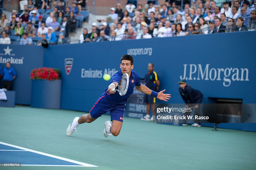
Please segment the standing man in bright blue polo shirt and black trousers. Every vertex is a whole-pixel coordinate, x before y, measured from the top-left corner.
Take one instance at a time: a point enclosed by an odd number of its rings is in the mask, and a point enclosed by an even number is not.
[[[3,76],[3,87],[7,90],[12,90],[13,88],[13,80],[16,78],[16,72],[14,68],[11,67],[11,63],[7,62],[6,67],[3,70],[4,76]]]

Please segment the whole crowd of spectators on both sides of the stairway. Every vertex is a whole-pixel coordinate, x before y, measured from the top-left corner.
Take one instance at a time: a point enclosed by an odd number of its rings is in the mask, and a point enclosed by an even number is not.
[[[184,0],[183,7],[180,1],[174,0],[166,0],[162,5],[158,1],[148,1],[144,7],[137,1],[127,1],[124,8],[117,3],[116,8],[110,8],[106,18],[92,23],[92,32],[88,32],[90,28],[84,29],[79,42],[256,30],[256,2],[215,1]],[[76,15],[85,3],[85,0],[74,1],[69,7],[64,1],[56,0],[52,11],[45,14],[44,9],[51,8],[51,3],[21,0],[19,13],[13,10],[9,19],[1,15],[0,44],[17,44],[17,41],[23,45],[40,44],[42,34],[49,44],[69,43],[69,32],[76,31]]]

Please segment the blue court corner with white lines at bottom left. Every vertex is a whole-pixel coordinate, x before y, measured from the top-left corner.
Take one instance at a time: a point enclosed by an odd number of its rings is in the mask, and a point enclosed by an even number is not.
[[[98,167],[95,165],[0,142],[0,165],[4,163],[19,163],[22,166]]]

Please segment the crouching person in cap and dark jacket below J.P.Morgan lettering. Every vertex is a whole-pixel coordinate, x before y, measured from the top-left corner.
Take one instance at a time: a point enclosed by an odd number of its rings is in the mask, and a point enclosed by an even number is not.
[[[203,94],[197,90],[192,88],[190,85],[187,85],[186,80],[180,80],[179,82],[179,93],[184,100],[185,107],[186,108],[195,108],[194,113],[195,115],[199,116],[199,110],[200,110],[200,103],[203,101]],[[191,111],[188,111],[184,113],[184,115],[187,117],[187,115],[190,115]],[[183,120],[183,126],[187,125],[187,120]],[[199,120],[196,120],[192,126],[201,127],[201,124],[199,123]]]

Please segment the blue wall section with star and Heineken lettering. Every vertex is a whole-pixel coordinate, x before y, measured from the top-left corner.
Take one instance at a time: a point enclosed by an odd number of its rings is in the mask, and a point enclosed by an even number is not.
[[[30,105],[31,70],[43,66],[44,49],[38,46],[0,45],[0,66],[10,61],[16,71],[13,90],[16,91],[15,103]],[[2,81],[2,80],[1,80]],[[2,82],[1,82],[2,83]]]

